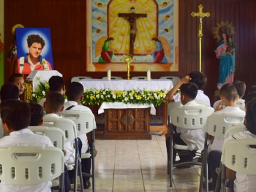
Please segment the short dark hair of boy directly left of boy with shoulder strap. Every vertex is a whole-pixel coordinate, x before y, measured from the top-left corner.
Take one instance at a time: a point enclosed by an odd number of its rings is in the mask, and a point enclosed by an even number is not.
[[[65,102],[64,96],[57,91],[48,93],[45,99],[45,105],[50,112],[59,112]]]

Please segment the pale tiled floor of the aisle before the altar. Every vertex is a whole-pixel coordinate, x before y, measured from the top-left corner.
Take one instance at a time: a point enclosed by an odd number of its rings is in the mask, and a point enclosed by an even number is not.
[[[198,191],[200,166],[173,169],[169,187],[165,137],[151,140],[96,140],[96,191]],[[86,191],[92,191],[88,189]]]

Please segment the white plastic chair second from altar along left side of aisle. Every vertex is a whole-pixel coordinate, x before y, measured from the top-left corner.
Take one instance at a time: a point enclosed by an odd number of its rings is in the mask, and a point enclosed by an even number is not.
[[[58,127],[61,128],[61,130],[64,132],[64,143],[74,141],[75,139],[75,176],[79,174],[80,176],[80,188],[81,191],[83,191],[83,180],[82,180],[82,174],[81,174],[81,166],[78,164],[78,135],[77,135],[77,128],[75,126],[75,123],[72,120],[69,120],[67,118],[57,118],[57,117],[44,117],[44,123],[42,126],[48,126],[48,127]],[[68,166],[68,165],[67,165]],[[77,191],[77,177],[75,177],[75,183],[74,183],[74,191]]]

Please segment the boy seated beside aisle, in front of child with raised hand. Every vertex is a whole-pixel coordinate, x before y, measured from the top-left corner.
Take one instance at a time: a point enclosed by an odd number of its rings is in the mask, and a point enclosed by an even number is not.
[[[182,84],[180,87],[181,90],[181,104],[186,106],[202,106],[197,104],[195,97],[197,96],[197,85],[192,82],[187,82]],[[178,145],[187,145],[191,152],[189,155],[180,155],[179,162],[193,161],[196,151],[195,147],[199,147],[200,150],[203,150],[205,132],[202,128],[189,130],[187,128],[180,128],[181,133],[173,134],[173,142]],[[173,164],[176,164],[176,149],[173,147]]]

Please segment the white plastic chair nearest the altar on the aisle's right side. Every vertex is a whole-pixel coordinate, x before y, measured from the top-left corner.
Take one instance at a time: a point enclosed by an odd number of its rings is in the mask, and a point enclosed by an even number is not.
[[[171,123],[174,126],[188,129],[199,129],[206,125],[206,120],[209,115],[214,112],[212,107],[203,106],[183,106],[174,107],[170,111]],[[173,130],[171,130],[173,131]],[[189,150],[189,147],[184,145],[175,145],[177,150]],[[194,150],[198,150],[196,147]],[[197,162],[186,162],[181,164],[197,164]],[[174,166],[179,166],[176,164]],[[170,135],[170,187],[173,186],[173,135]]]

